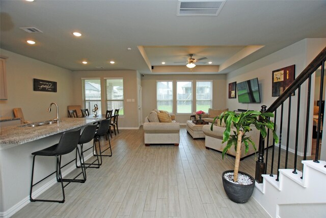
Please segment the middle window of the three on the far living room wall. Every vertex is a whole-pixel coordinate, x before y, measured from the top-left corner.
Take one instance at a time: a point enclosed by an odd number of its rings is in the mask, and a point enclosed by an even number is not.
[[[193,111],[193,82],[177,81],[177,113],[191,114]]]

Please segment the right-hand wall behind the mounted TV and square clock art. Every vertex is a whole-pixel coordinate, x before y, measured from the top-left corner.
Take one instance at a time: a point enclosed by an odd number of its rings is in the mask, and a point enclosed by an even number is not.
[[[227,74],[227,84],[233,81],[241,82],[254,77],[258,77],[261,103],[243,104],[238,103],[238,99],[227,99],[227,107],[229,110],[236,110],[237,108],[260,110],[261,105],[265,104],[267,107],[273,103],[277,97],[271,97],[271,83],[272,83],[272,71],[295,65],[295,77],[300,74],[306,66],[318,55],[318,53],[326,46],[326,39],[304,39],[296,42],[288,47],[285,47],[271,55],[268,55],[258,61],[255,61],[247,66],[237,69]],[[301,113],[306,112],[306,93],[307,85],[304,84],[301,93]],[[297,91],[295,96],[291,98],[291,114],[296,111],[297,108]],[[282,130],[282,145],[286,145],[286,126],[287,126],[287,112],[288,102],[284,104],[284,117],[283,117],[283,130]],[[280,110],[278,110],[278,120],[280,119]],[[295,118],[291,117],[291,125],[296,124]],[[305,119],[302,117],[299,123],[300,129],[298,134],[298,152],[303,153],[304,144],[304,128]],[[280,127],[280,126],[278,126]],[[279,129],[278,129],[279,130]],[[295,128],[292,128],[290,132],[290,149],[294,149],[295,142]]]

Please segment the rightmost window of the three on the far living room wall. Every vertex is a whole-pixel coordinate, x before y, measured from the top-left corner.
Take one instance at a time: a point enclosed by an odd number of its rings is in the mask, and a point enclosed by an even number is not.
[[[208,109],[212,108],[212,101],[212,81],[197,81],[196,111],[208,113]]]

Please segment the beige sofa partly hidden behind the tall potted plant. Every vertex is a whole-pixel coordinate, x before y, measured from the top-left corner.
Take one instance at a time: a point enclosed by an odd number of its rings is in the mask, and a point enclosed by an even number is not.
[[[206,149],[214,149],[217,151],[223,151],[224,147],[226,146],[226,143],[222,144],[223,141],[223,132],[225,130],[225,127],[222,126],[213,126],[213,131],[210,130],[210,125],[204,125],[203,126],[203,132],[205,134],[205,147]],[[236,129],[231,128],[231,132],[236,131]],[[252,141],[255,143],[256,149],[258,151],[259,147],[259,135],[260,131],[253,128],[252,131],[246,133],[247,137],[251,137]],[[269,134],[269,142],[268,144],[271,145],[273,144],[273,135],[270,133]],[[265,139],[265,148],[267,147],[267,139]],[[249,150],[247,154],[244,154],[244,145],[242,144],[241,146],[241,159],[255,153],[255,150],[251,144],[249,144]],[[234,146],[231,147],[228,152],[228,155],[235,156],[236,152],[234,150]]]

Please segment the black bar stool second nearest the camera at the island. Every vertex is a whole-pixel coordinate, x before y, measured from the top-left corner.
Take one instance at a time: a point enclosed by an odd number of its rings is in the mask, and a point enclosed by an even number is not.
[[[96,127],[97,127],[97,124],[87,125],[85,127],[85,129],[83,130],[82,134],[80,135],[78,145],[80,145],[80,155],[81,156],[79,156],[79,160],[80,159],[83,160],[83,162],[80,162],[80,166],[77,165],[77,151],[78,151],[78,149],[76,149],[76,168],[80,168],[80,167],[82,168],[82,171],[85,174],[85,181],[86,181],[86,169],[87,168],[99,168],[100,167],[100,161],[98,159],[98,156],[97,156],[97,162],[98,163],[95,163],[96,160],[94,160],[92,163],[86,163],[84,161],[84,154],[83,154],[85,151],[92,148],[92,147],[90,147],[87,150],[83,151],[83,145],[85,143],[88,143],[88,142],[90,142],[90,141],[92,141],[94,139],[94,135],[95,135],[95,132],[96,132]],[[85,165],[87,165],[87,167],[85,167]],[[95,165],[97,167],[92,167],[92,165]],[[78,174],[78,175],[80,175],[80,174]]]

